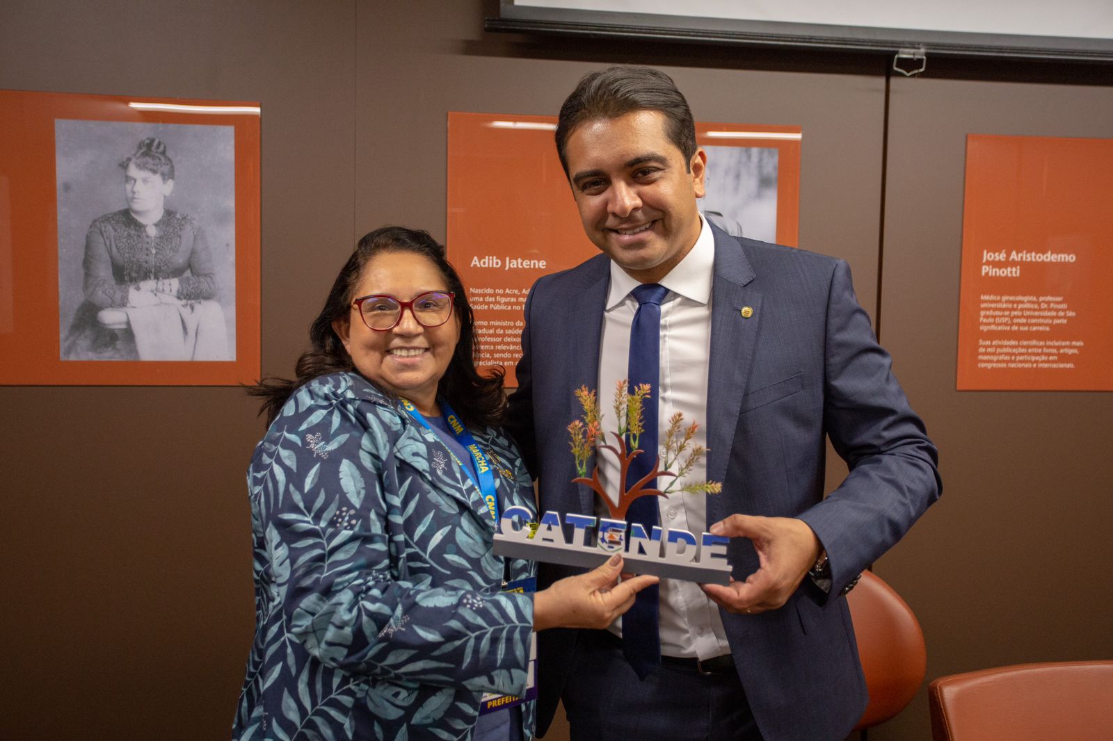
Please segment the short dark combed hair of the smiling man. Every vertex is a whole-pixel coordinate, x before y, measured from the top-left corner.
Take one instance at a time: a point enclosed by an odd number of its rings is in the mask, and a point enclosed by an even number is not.
[[[696,154],[696,124],[688,101],[672,78],[649,67],[609,67],[580,79],[564,100],[556,120],[556,154],[568,176],[568,138],[587,121],[619,118],[639,110],[664,116],[664,131],[691,166]]]

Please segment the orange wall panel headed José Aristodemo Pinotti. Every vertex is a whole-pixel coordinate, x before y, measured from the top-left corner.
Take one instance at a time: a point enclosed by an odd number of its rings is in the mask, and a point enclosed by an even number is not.
[[[1113,139],[966,135],[957,391],[1113,391]]]

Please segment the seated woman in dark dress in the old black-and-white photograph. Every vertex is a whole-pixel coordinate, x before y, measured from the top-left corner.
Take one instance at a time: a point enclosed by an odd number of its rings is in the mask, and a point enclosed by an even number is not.
[[[230,359],[205,230],[167,207],[175,180],[166,144],[147,137],[119,167],[126,208],[89,226],[83,302],[62,340],[62,359]]]

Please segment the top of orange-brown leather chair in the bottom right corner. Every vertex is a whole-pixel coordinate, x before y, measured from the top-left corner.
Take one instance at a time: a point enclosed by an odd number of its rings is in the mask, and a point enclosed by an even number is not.
[[[940,676],[934,741],[1113,739],[1113,661],[1018,664]]]

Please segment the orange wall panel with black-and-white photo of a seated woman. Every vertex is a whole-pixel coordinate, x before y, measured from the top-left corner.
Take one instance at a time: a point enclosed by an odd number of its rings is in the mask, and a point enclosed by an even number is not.
[[[2,385],[259,376],[259,106],[0,90]]]

